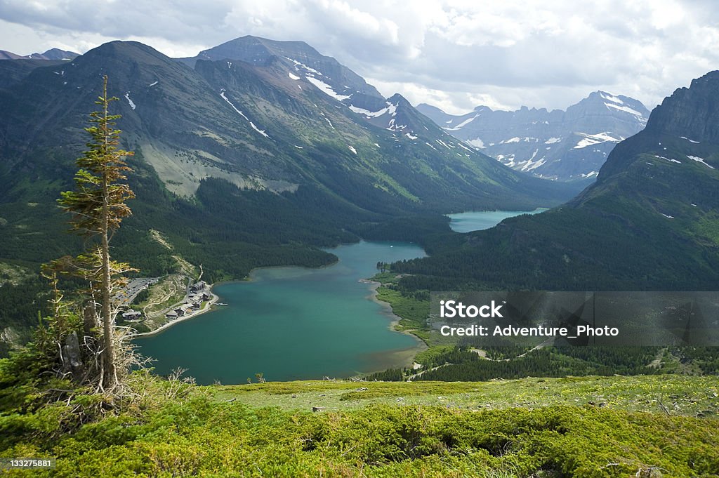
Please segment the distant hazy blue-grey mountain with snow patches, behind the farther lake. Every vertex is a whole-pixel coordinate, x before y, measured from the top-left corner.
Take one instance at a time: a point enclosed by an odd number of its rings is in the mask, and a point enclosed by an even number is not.
[[[606,91],[591,93],[567,111],[477,106],[451,115],[428,104],[417,109],[444,131],[515,170],[585,183],[596,179],[615,145],[644,129],[649,117],[640,101]]]

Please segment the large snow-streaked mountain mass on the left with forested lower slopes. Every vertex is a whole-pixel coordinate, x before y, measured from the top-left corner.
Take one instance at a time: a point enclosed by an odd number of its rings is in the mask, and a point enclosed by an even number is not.
[[[428,214],[444,224],[440,213],[554,206],[579,191],[473,150],[303,42],[242,37],[173,59],[116,41],[70,61],[0,62],[0,257],[36,263],[68,249],[53,205],[73,187],[103,75],[135,152],[134,216],[116,248],[145,270],[171,262],[157,259],[170,252],[150,229],[209,277],[242,277],[316,265],[318,245],[417,240]]]

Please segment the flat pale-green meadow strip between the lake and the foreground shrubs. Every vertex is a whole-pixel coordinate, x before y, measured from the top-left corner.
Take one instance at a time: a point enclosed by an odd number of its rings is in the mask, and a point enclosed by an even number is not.
[[[366,389],[366,390],[363,390]],[[211,387],[216,400],[282,410],[354,410],[367,405],[431,405],[462,410],[595,406],[627,412],[719,416],[716,377],[564,377],[489,382],[268,382]]]

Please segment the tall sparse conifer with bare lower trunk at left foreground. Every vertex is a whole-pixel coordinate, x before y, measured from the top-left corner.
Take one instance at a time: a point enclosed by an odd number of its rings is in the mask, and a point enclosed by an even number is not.
[[[89,150],[78,158],[78,172],[75,174],[75,190],[61,193],[58,200],[65,211],[73,213],[70,220],[75,233],[88,238],[88,250],[75,258],[75,275],[80,275],[90,284],[91,306],[89,313],[98,314],[102,325],[102,341],[99,349],[99,376],[92,380],[98,390],[111,391],[119,385],[114,340],[114,323],[118,313],[113,304],[113,290],[124,272],[132,270],[127,264],[114,262],[110,257],[110,242],[122,219],[132,211],[125,201],[134,198],[129,185],[123,183],[130,168],[123,158],[132,152],[119,149],[119,129],[114,129],[115,120],[121,115],[109,114],[111,101],[118,98],[107,96],[107,75],[103,78],[102,96],[95,104],[100,111],[90,114],[91,135],[87,144]]]

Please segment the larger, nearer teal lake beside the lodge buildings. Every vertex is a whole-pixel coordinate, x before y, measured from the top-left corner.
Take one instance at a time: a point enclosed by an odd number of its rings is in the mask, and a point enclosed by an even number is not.
[[[216,307],[139,337],[139,352],[153,357],[155,372],[178,367],[199,384],[349,377],[411,364],[420,342],[390,330],[386,305],[370,300],[359,280],[377,262],[423,257],[421,247],[399,242],[359,242],[329,249],[339,262],[320,269],[268,267],[250,281],[217,286],[226,307]]]

